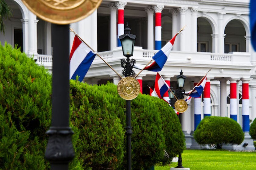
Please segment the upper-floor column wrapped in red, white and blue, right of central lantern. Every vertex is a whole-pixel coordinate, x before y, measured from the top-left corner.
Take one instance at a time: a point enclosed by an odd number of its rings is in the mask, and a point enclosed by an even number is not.
[[[155,49],[162,48],[162,10],[164,5],[154,5],[155,10]]]

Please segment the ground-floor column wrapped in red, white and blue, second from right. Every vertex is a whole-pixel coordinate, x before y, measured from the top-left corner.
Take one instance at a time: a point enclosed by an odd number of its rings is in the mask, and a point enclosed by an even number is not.
[[[230,118],[237,121],[236,80],[230,80]]]

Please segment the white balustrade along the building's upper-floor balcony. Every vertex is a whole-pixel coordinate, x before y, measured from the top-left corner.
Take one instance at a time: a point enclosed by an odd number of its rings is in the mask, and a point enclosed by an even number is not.
[[[142,47],[134,47],[133,58],[142,62],[145,60],[145,64],[158,52],[158,50],[142,49]],[[123,51],[121,47],[117,47],[112,51],[104,51],[98,53],[106,62],[108,60],[119,60],[123,58]],[[202,64],[211,64],[222,67],[225,66],[249,66],[251,65],[250,53],[246,52],[232,52],[228,54],[218,53],[203,53],[203,52],[181,52],[171,51],[167,63],[188,63],[193,64],[194,67],[198,67]],[[94,67],[103,62],[98,56],[95,56],[92,65]],[[37,62],[38,65],[43,65],[46,68],[52,68],[52,56],[39,55]],[[192,65],[191,65],[192,66]],[[192,66],[192,67],[193,67]]]

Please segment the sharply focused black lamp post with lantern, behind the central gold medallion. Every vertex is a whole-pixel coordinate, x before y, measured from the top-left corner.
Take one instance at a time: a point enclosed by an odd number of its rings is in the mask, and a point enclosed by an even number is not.
[[[121,41],[123,55],[126,56],[125,59],[121,59],[121,66],[124,68],[122,74],[127,77],[134,75],[133,66],[135,63],[134,59],[130,60],[130,56],[133,56],[133,48],[134,48],[134,40],[136,38],[135,35],[130,34],[130,28],[128,27],[128,23],[126,28],[124,29],[124,34],[119,36]],[[132,127],[131,127],[131,100],[126,100],[126,169],[132,169],[132,145],[131,145],[131,135],[132,135]]]

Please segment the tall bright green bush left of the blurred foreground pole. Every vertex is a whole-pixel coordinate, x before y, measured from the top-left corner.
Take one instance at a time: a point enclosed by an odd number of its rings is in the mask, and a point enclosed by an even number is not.
[[[51,120],[51,75],[33,59],[0,46],[0,169],[44,170]]]

